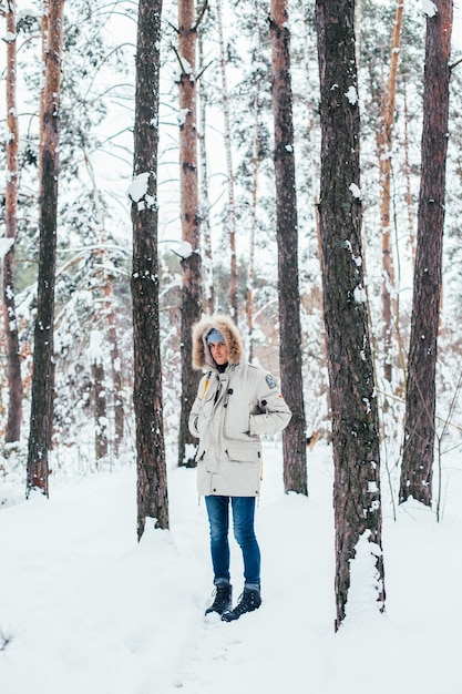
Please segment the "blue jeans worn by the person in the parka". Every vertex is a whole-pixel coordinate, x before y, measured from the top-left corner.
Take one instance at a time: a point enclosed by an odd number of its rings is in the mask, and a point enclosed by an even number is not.
[[[255,497],[205,497],[211,524],[214,583],[229,583],[229,501],[234,537],[243,552],[246,588],[260,586],[260,550],[255,537]]]

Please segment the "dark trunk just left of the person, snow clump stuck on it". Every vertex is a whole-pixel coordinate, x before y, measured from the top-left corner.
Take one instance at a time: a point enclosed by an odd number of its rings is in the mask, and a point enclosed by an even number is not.
[[[140,0],[136,44],[133,223],[133,401],[136,422],[137,537],[146,518],[168,528],[158,318],[157,147],[162,0]]]

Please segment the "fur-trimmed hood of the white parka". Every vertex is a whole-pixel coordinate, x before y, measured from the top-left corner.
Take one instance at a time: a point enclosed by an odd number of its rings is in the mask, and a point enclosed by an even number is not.
[[[216,369],[216,364],[207,345],[207,335],[213,328],[219,330],[225,338],[228,348],[228,364],[237,365],[244,361],[243,340],[233,319],[229,316],[214,314],[213,316],[205,316],[193,326],[193,368],[196,370]]]

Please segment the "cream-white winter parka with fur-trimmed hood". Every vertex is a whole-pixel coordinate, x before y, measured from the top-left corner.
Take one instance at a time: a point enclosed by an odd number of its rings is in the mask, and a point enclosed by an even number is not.
[[[207,345],[216,328],[228,348],[220,372]],[[193,328],[193,367],[203,376],[189,415],[189,431],[199,439],[199,496],[258,496],[261,479],[261,436],[281,431],[291,412],[273,376],[244,361],[240,335],[227,316],[203,318]]]

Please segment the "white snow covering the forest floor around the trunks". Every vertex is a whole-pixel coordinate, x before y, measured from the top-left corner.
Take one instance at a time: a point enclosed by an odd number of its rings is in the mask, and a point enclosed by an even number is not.
[[[309,498],[283,493],[280,445],[266,446],[256,518],[264,602],[234,623],[203,618],[212,579],[194,470],[170,463],[171,529],[148,521],[140,543],[133,462],[84,478],[53,472],[49,500],[23,501],[21,481],[7,476],[0,635],[11,642],[0,653],[1,693],[459,694],[462,476],[452,456],[440,523],[412,500],[394,521],[382,484],[387,609],[373,604],[374,552],[362,538],[337,634],[327,446],[309,452]],[[237,599],[234,541],[232,567]]]

